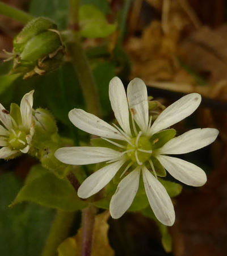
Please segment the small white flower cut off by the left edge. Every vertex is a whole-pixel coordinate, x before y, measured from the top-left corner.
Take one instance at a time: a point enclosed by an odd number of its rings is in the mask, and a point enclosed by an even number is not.
[[[0,104],[0,158],[14,158],[28,152],[34,133],[33,92],[34,90],[24,95],[20,108],[14,104],[11,114]]]

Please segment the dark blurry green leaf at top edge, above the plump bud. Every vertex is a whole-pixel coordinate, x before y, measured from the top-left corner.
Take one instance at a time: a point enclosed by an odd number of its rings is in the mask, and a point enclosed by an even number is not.
[[[61,30],[67,27],[69,0],[31,0],[30,13],[34,16],[49,17]]]

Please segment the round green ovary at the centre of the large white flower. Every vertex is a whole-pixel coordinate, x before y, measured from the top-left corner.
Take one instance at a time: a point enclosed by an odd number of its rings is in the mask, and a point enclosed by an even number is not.
[[[133,150],[131,152],[128,152],[127,155],[130,159],[133,160],[133,162],[137,162],[136,160],[136,150],[137,150],[137,156],[138,156],[138,160],[141,163],[146,162],[146,160],[150,159],[151,153],[146,153],[146,152],[141,152],[138,149],[141,150],[147,150],[150,151],[152,150],[152,144],[150,143],[149,139],[146,137],[141,136],[138,139],[138,143],[136,146],[136,137],[131,139],[131,144],[128,144],[127,146],[127,150]]]

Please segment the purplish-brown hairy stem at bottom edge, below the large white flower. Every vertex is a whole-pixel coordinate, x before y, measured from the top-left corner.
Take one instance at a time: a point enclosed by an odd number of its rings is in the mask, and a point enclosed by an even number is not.
[[[82,210],[82,250],[81,256],[90,256],[93,242],[96,209],[93,205]]]

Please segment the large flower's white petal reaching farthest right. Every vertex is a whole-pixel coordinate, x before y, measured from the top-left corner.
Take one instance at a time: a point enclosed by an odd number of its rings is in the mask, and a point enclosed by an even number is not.
[[[213,128],[194,129],[171,139],[162,148],[160,154],[184,154],[198,150],[215,141],[218,130]]]

